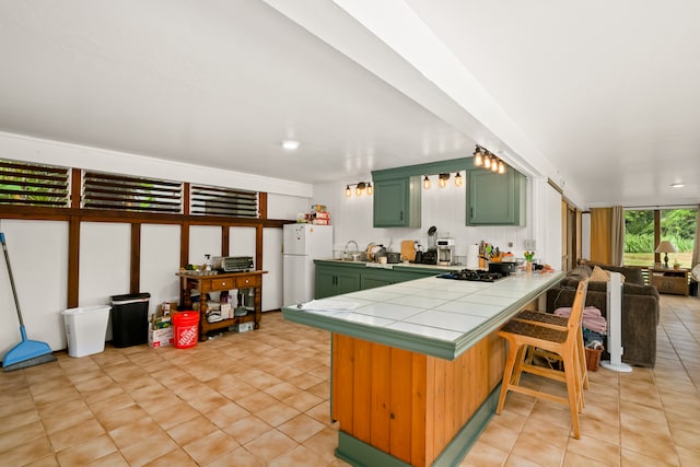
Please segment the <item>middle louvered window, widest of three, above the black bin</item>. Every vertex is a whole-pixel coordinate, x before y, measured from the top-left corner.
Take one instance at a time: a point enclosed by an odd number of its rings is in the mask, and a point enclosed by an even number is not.
[[[83,171],[82,207],[117,211],[183,212],[183,184]]]

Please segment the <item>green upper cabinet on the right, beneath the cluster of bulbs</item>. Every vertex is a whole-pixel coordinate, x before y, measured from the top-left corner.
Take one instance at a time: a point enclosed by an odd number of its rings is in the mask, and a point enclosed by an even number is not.
[[[524,225],[525,176],[513,168],[505,174],[468,171],[467,225]]]

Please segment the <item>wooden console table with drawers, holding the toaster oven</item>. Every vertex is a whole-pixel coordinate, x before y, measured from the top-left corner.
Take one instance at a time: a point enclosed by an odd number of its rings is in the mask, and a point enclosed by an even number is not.
[[[238,325],[242,323],[253,322],[254,329],[260,328],[260,318],[262,316],[261,310],[261,293],[260,288],[262,285],[262,275],[267,271],[248,271],[248,272],[232,272],[232,273],[219,273],[211,276],[194,275],[191,272],[178,272],[180,278],[180,301],[185,306],[185,310],[191,310],[191,291],[194,289],[199,291],[199,340],[207,340],[207,332],[210,330],[228,328],[229,326]],[[207,322],[207,303],[206,296],[209,292],[219,292],[224,290],[241,290],[241,289],[254,289],[254,312],[248,313],[245,316],[234,316],[231,319],[222,319],[217,323]]]

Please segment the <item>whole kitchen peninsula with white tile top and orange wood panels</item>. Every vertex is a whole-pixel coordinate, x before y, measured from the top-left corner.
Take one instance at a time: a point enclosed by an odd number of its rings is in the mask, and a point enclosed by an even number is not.
[[[357,466],[458,465],[498,401],[505,345],[495,331],[562,277],[430,277],[283,307],[332,332],[336,455]]]

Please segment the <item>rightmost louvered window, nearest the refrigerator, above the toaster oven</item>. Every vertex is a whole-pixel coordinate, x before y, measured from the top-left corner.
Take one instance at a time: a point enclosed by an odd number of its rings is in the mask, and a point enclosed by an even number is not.
[[[191,185],[190,213],[258,218],[258,194],[231,188]]]

